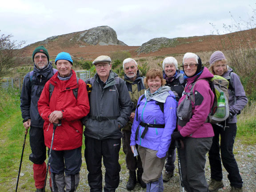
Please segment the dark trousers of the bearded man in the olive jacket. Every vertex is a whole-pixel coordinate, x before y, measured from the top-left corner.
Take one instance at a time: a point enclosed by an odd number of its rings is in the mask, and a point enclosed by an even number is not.
[[[130,171],[136,171],[136,169],[143,169],[142,168],[142,163],[141,163],[141,159],[140,159],[140,155],[138,156],[134,156],[132,149],[130,147],[130,143],[131,143],[131,131],[126,131],[123,130],[123,151],[125,154],[125,161],[126,161],[126,168]],[[136,145],[136,148],[138,150],[138,145]]]

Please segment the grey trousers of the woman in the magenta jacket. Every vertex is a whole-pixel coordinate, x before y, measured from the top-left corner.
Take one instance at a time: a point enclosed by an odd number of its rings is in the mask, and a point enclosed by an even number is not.
[[[206,153],[212,145],[212,137],[185,137],[184,149],[180,152],[181,173],[187,192],[208,192],[204,175]]]

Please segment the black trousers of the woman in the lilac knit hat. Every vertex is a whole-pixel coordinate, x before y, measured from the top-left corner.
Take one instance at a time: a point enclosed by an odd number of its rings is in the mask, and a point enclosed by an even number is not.
[[[217,181],[222,180],[222,161],[224,168],[228,172],[230,185],[236,188],[241,188],[243,186],[243,181],[233,154],[233,145],[236,137],[236,124],[227,124],[227,126],[228,127],[224,129],[216,124],[212,125],[215,136],[212,139],[212,147],[209,151],[211,178]]]

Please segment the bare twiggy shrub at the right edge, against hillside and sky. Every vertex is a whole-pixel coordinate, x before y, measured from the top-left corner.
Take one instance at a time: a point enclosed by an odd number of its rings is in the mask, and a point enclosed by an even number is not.
[[[237,21],[230,15],[233,24],[223,24],[224,30],[230,33],[220,35],[219,29],[212,24],[218,36],[213,37],[215,44],[209,46],[224,52],[228,65],[240,76],[248,96],[256,99],[256,9],[247,21],[241,18]]]

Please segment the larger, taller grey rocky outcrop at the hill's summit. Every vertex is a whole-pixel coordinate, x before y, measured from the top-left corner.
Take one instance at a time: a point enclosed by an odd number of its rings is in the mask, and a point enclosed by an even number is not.
[[[77,32],[70,40],[83,41],[92,45],[127,45],[118,40],[115,30],[108,26],[100,26],[83,32]]]

